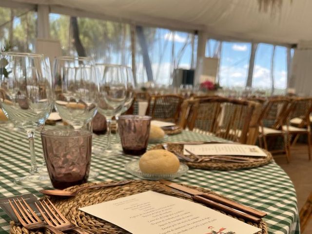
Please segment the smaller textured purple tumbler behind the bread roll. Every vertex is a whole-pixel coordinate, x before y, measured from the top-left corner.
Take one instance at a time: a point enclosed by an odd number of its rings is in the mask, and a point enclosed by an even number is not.
[[[123,152],[128,155],[144,154],[150,136],[150,127],[149,116],[120,116],[118,128]]]

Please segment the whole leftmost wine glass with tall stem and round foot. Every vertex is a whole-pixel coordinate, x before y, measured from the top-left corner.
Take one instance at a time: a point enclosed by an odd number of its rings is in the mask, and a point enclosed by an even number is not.
[[[26,131],[31,157],[30,175],[15,180],[22,187],[45,186],[49,177],[38,173],[34,131],[44,125],[53,108],[51,73],[43,55],[0,53],[0,103],[15,126]]]

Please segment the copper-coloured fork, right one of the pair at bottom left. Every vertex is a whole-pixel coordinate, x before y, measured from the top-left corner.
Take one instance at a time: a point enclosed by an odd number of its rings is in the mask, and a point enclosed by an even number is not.
[[[44,221],[46,221],[47,224],[49,224],[50,226],[60,231],[74,230],[79,234],[88,234],[82,229],[76,227],[76,225],[71,223],[68,219],[66,219],[65,216],[59,212],[59,210],[53,205],[53,203],[49,199],[48,199],[48,202],[52,208],[44,200],[43,202],[41,202],[40,200],[38,202],[40,203],[44,212],[40,209],[37,202],[35,202],[35,204],[39,212],[41,213]],[[44,213],[46,215],[44,215]],[[49,216],[49,218],[47,217],[47,215]]]

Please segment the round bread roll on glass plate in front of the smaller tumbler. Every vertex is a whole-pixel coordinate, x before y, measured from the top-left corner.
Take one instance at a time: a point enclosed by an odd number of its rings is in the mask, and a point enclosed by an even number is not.
[[[179,159],[167,150],[150,150],[141,156],[139,162],[140,170],[148,174],[173,174],[179,166]]]

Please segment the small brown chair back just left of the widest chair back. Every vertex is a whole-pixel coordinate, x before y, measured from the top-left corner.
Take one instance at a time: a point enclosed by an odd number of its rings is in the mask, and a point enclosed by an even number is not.
[[[183,100],[179,95],[151,96],[146,113],[153,119],[178,123]]]

